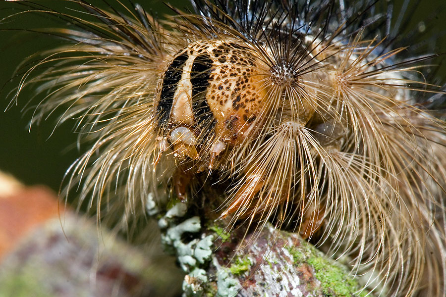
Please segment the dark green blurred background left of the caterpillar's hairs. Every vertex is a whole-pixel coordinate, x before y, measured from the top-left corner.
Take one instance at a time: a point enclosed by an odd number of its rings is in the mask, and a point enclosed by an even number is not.
[[[73,5],[65,0],[35,2],[55,10],[63,10],[65,7],[80,8],[79,5]],[[98,7],[107,7],[102,0],[88,2]],[[114,0],[108,2],[115,3]],[[128,4],[126,0],[123,2]],[[153,11],[159,17],[172,14],[171,9],[160,0],[136,2],[144,4],[146,10]],[[174,0],[169,3],[184,8],[187,2]],[[119,7],[119,5],[114,6]],[[0,19],[24,9],[26,7],[17,2],[0,0]],[[27,185],[43,184],[58,191],[65,171],[80,156],[79,150],[75,147],[77,135],[73,133],[74,121],[65,122],[54,130],[56,116],[52,116],[39,125],[33,125],[29,130],[29,121],[34,109],[23,109],[33,96],[29,88],[20,94],[17,105],[5,111],[12,98],[9,92],[19,84],[23,69],[27,68],[26,64],[20,65],[20,63],[36,52],[64,44],[52,36],[26,32],[22,29],[51,27],[65,26],[63,21],[37,13],[17,15],[3,20],[0,24],[0,171],[14,175]],[[5,28],[19,30],[10,31]]]

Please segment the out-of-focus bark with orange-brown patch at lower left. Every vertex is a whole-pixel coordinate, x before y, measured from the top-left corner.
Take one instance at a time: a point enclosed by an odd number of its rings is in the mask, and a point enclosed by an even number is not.
[[[178,296],[172,259],[62,206],[0,172],[0,297]]]

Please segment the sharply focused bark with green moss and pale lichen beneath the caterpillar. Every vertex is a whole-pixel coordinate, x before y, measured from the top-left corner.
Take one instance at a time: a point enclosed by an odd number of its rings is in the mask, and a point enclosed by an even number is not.
[[[183,296],[367,295],[346,267],[299,235],[271,224],[225,232],[226,223],[191,216],[181,202],[159,220],[163,243],[187,273]]]

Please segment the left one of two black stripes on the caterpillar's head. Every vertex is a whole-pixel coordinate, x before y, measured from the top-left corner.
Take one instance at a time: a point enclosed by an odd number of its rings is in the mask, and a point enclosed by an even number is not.
[[[172,110],[173,95],[181,79],[183,66],[189,56],[186,52],[180,54],[167,67],[164,73],[163,86],[161,88],[160,101],[157,105],[158,125],[168,124],[170,111]]]

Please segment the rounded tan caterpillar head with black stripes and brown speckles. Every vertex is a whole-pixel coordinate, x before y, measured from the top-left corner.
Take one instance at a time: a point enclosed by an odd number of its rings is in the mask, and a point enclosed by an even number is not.
[[[159,82],[160,137],[179,159],[214,168],[216,157],[254,137],[262,123],[256,119],[268,98],[261,69],[253,51],[234,42],[197,41],[180,50]]]

